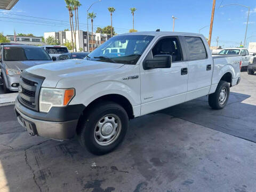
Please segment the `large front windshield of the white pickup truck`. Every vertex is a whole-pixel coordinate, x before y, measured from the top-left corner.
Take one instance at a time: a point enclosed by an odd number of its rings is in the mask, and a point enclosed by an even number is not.
[[[135,65],[153,38],[149,35],[115,36],[91,52],[87,59]]]

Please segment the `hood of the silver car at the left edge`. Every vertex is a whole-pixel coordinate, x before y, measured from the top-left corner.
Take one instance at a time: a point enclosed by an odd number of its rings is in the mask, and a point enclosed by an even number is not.
[[[49,60],[49,61],[4,61],[6,68],[18,69],[20,71],[27,69],[29,67],[33,67],[36,65],[40,65],[42,63],[49,63],[49,62],[52,62],[52,60]]]

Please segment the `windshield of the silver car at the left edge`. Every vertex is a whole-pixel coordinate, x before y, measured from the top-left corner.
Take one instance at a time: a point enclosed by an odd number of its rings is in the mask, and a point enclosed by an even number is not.
[[[5,61],[52,60],[46,51],[39,47],[4,47]]]

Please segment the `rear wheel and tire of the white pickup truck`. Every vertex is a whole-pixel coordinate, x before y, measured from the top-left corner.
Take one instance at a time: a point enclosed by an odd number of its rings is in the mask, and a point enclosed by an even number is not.
[[[208,103],[213,109],[223,109],[229,98],[229,84],[226,81],[220,81],[214,93],[208,97]]]

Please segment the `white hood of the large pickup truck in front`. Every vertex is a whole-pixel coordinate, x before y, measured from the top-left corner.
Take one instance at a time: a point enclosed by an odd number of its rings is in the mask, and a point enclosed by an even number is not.
[[[62,78],[98,74],[122,66],[123,64],[119,63],[70,59],[34,66],[27,71],[45,77],[42,86],[55,87]]]

